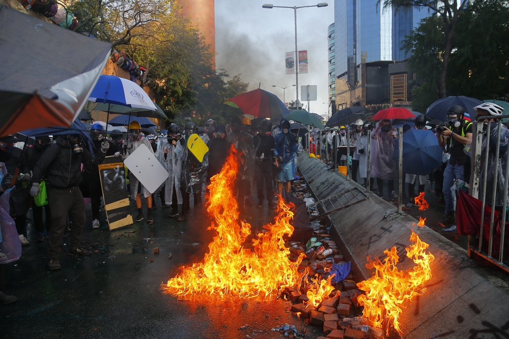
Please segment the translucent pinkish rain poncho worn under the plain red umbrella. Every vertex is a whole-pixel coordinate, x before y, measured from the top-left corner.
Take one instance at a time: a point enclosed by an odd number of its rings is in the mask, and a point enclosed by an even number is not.
[[[378,124],[372,133],[371,143],[371,174],[375,178],[393,180],[396,163],[392,160],[394,153],[394,138],[392,131],[384,132]]]

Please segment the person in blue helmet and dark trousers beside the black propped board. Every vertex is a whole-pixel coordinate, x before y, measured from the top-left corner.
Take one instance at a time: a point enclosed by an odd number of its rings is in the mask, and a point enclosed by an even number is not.
[[[95,149],[100,149],[101,144],[106,141],[104,128],[97,122],[90,128],[90,137],[94,143]],[[106,157],[115,156],[120,158],[122,156],[122,147],[114,143],[109,143],[109,148],[106,153]],[[89,186],[90,199],[92,200],[92,228],[101,227],[99,208],[101,207],[102,187],[101,178],[99,176],[99,167],[92,165],[90,168],[85,168],[84,179],[87,181]]]

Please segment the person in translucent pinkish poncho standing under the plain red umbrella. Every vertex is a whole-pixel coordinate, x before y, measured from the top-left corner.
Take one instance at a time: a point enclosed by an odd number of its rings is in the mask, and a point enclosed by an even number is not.
[[[394,175],[396,164],[392,160],[394,152],[394,139],[396,132],[392,129],[390,120],[382,120],[371,135],[371,173],[377,179],[378,196],[383,197],[383,180],[388,181],[388,193],[390,199],[397,198],[394,193]]]

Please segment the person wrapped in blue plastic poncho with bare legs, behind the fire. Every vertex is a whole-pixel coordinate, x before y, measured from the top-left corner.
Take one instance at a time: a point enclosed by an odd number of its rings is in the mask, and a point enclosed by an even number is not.
[[[274,155],[278,156],[281,162],[282,171],[275,176],[277,192],[282,194],[283,185],[285,190],[290,192],[292,180],[295,175],[295,155],[298,149],[298,138],[290,133],[290,122],[287,119],[281,121],[281,132],[275,137]]]

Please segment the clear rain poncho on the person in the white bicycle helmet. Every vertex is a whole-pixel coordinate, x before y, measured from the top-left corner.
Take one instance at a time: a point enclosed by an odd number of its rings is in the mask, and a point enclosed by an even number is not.
[[[498,168],[495,168],[496,156],[496,141],[497,141],[497,125],[496,121],[491,121],[490,137],[483,136],[483,145],[481,148],[481,173],[480,173],[480,187],[483,187],[484,179],[484,161],[486,157],[486,145],[490,142],[490,149],[488,154],[488,172],[486,175],[486,204],[491,205],[493,198],[493,179],[495,177],[495,170],[497,174],[497,193],[495,197],[495,206],[503,206],[504,189],[505,189],[505,165],[507,162],[507,146],[509,143],[509,130],[502,125],[500,130],[500,154],[498,161]]]

